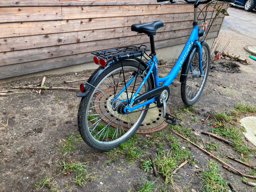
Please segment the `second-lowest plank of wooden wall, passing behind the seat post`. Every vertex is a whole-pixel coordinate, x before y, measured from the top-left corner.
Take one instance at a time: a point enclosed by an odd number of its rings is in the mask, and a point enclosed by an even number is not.
[[[213,28],[214,30],[214,28]],[[162,39],[171,39],[177,37],[184,37],[189,35],[191,30],[174,30],[160,32],[155,35],[155,41]],[[114,39],[104,39],[100,41],[73,43],[68,45],[43,47],[37,49],[28,49],[20,51],[9,51],[0,53],[0,66],[11,65],[14,63],[22,63],[29,61],[36,61],[41,59],[48,59],[54,57],[61,57],[65,55],[79,54],[99,49],[108,49],[114,47],[134,45],[138,43],[149,42],[146,34],[141,34],[132,37],[122,37]]]

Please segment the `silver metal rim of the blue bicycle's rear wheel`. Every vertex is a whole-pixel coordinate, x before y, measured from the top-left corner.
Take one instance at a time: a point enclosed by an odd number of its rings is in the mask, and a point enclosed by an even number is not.
[[[135,70],[135,71],[137,71],[138,69],[136,68],[136,67],[132,67],[132,66],[123,66],[123,68],[124,68],[124,70],[125,69],[130,69],[130,70]],[[90,97],[90,100],[89,100],[89,102],[92,102],[92,99],[93,99],[93,97],[95,97],[94,95],[95,95],[95,92],[96,91],[99,91],[98,90],[98,87],[99,87],[99,85],[101,85],[111,74],[115,74],[115,72],[117,72],[117,71],[120,71],[120,70],[122,70],[122,67],[119,67],[118,69],[115,69],[114,71],[111,71],[109,74],[107,74],[106,76],[105,76],[105,78],[103,78],[102,80],[101,80],[101,82],[99,82],[98,83],[98,85],[97,85],[97,87],[94,89],[94,91],[93,91],[93,93],[92,93],[92,95],[91,95],[91,97]],[[138,78],[137,78],[137,82],[138,82],[138,79],[139,79],[140,77],[138,76]],[[127,80],[126,80],[126,82],[127,82]],[[144,84],[144,88],[146,88],[148,85],[147,85],[147,81],[146,81],[146,83]],[[143,87],[142,87],[143,88]],[[145,91],[147,91],[147,90],[145,90]],[[128,91],[129,92],[129,91]],[[109,105],[111,105],[110,103],[109,103]],[[88,117],[88,112],[90,111],[89,110],[89,107],[90,107],[90,104],[88,104],[87,105],[87,108],[86,108],[86,113],[85,113],[85,117],[87,118]],[[90,107],[91,108],[91,107]],[[140,109],[145,109],[146,108],[146,106],[143,106],[142,108],[140,108]],[[112,113],[113,111],[110,111],[110,113]],[[113,141],[99,141],[99,140],[97,140],[96,138],[95,138],[95,136],[94,135],[92,135],[91,134],[91,132],[92,131],[90,131],[90,127],[89,127],[89,125],[88,125],[88,122],[90,122],[90,121],[88,121],[87,119],[86,119],[86,129],[88,129],[88,131],[89,131],[89,133],[90,133],[90,135],[91,135],[91,138],[93,138],[93,140],[95,141],[95,142],[97,142],[97,143],[100,143],[100,144],[102,144],[102,145],[110,145],[110,144],[113,144],[113,143],[117,143],[117,142],[119,142],[119,141],[121,141],[122,139],[124,139],[125,137],[127,137],[127,135],[129,134],[129,133],[131,133],[131,132],[133,132],[134,131],[134,129],[138,126],[138,123],[139,123],[139,121],[141,121],[141,118],[142,118],[142,116],[143,116],[143,113],[144,113],[144,111],[141,111],[141,113],[138,115],[138,119],[135,121],[135,123],[131,126],[131,128],[128,130],[128,131],[124,131],[123,129],[122,129],[122,127],[119,127],[119,129],[118,128],[115,128],[116,129],[116,131],[119,131],[120,132],[120,130],[123,132],[123,135],[121,136],[121,137],[119,137],[119,138],[117,138],[117,139],[114,139]],[[98,114],[99,115],[99,114]],[[118,117],[119,119],[121,119],[122,117]],[[128,114],[127,114],[127,119],[129,119],[128,118]],[[98,121],[98,119],[97,119],[97,121]],[[103,122],[103,120],[99,120],[99,123],[100,123],[100,121],[102,121]],[[128,120],[129,121],[129,120]],[[104,122],[105,123],[105,122]],[[129,122],[128,122],[129,123]],[[98,125],[98,124],[97,124]],[[96,125],[96,126],[97,126]],[[95,126],[95,127],[96,127]],[[109,125],[110,126],[110,125]],[[95,129],[95,127],[94,127],[94,129]],[[111,126],[111,127],[113,127],[113,126]],[[110,127],[108,127],[108,129],[109,129]],[[112,129],[112,128],[111,128]],[[104,139],[104,138],[103,138]],[[113,139],[113,138],[112,138]]]

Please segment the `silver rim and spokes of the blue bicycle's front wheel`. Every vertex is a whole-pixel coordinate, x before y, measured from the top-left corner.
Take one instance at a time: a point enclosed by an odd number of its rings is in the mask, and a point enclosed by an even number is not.
[[[187,74],[187,82],[186,82],[186,95],[189,102],[193,102],[199,94],[201,94],[201,91],[203,89],[203,85],[205,83],[205,75],[208,71],[208,58],[209,54],[207,51],[207,48],[205,46],[202,47],[202,71],[203,76],[200,76],[199,71],[199,62],[198,62],[198,53],[196,52],[194,54],[194,57],[192,58],[192,73],[190,71],[190,67],[188,69]]]

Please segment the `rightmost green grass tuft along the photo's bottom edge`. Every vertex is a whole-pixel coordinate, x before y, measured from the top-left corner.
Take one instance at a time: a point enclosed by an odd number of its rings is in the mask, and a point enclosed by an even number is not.
[[[218,164],[215,161],[207,162],[207,170],[198,175],[202,179],[204,192],[228,192],[227,181],[219,174]]]

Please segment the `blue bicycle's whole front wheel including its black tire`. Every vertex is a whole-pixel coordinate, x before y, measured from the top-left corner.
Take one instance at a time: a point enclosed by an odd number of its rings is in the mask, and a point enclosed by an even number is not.
[[[205,86],[210,67],[210,48],[206,42],[202,43],[202,71],[200,75],[198,49],[193,53],[188,61],[185,70],[185,82],[181,83],[181,98],[185,105],[193,105],[201,95]],[[192,67],[192,71],[191,68]]]

